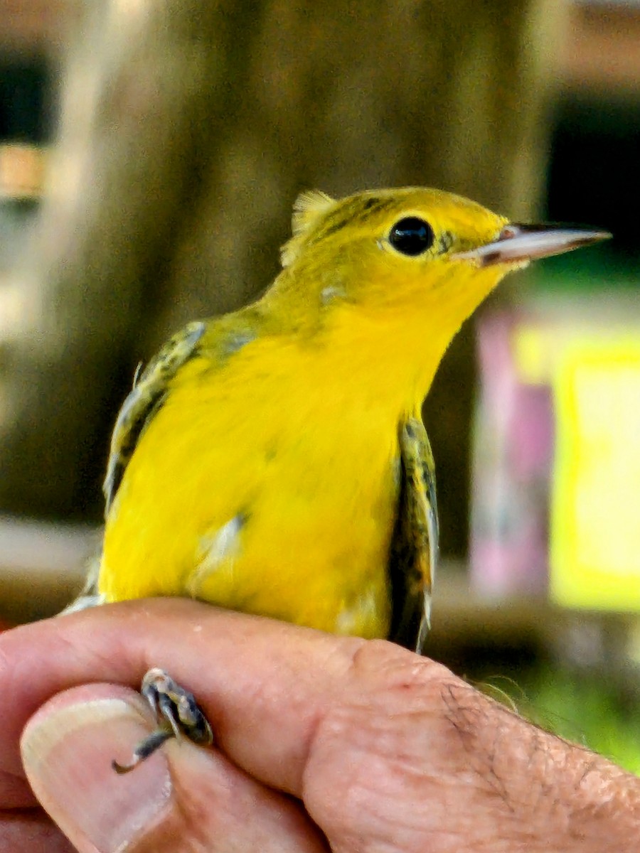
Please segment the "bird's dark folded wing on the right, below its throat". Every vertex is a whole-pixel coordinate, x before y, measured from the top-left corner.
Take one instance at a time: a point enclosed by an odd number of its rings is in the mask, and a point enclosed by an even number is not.
[[[389,554],[391,639],[422,653],[429,629],[431,588],[438,561],[438,505],[433,453],[422,421],[400,427],[401,482]]]

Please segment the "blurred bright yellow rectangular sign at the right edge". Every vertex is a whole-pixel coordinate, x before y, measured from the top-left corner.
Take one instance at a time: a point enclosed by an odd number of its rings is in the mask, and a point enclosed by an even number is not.
[[[640,610],[640,334],[573,339],[554,374],[550,594]]]

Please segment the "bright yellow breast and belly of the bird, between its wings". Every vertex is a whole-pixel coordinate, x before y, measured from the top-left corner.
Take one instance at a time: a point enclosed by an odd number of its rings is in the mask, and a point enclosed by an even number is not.
[[[185,365],[109,513],[102,595],[387,635],[398,415],[337,369],[271,339]]]

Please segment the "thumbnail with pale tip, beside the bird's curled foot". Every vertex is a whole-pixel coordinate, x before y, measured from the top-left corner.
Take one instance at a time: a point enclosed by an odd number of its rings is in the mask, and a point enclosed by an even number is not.
[[[158,821],[172,782],[160,751],[129,775],[128,761],[148,724],[123,699],[95,699],[41,712],[22,735],[26,776],[44,809],[79,850],[126,850]],[[93,847],[88,848],[89,845]]]

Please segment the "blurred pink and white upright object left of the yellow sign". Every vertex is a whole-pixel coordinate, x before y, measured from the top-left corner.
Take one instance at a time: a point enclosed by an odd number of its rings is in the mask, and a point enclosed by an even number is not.
[[[470,560],[473,588],[489,597],[544,595],[549,577],[553,402],[549,385],[518,376],[515,328],[506,310],[478,326]]]

